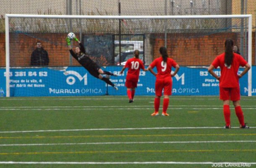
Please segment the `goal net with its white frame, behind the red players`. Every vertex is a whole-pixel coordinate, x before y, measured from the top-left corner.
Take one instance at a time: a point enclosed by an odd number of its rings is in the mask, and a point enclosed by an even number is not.
[[[148,66],[166,46],[181,67],[172,78],[172,95],[218,95],[219,83],[207,67],[224,52],[227,38],[251,64],[251,21],[251,15],[5,15],[6,95],[126,95],[127,71],[110,77],[119,91],[92,77],[69,53],[69,32],[102,70],[112,73],[121,71],[134,50]],[[71,46],[75,50],[78,44],[73,40]],[[32,53],[39,55],[32,59]],[[220,75],[220,69],[214,71]],[[251,81],[250,70],[241,79],[242,95],[251,95]],[[136,94],[154,95],[154,82],[152,74],[141,72]]]

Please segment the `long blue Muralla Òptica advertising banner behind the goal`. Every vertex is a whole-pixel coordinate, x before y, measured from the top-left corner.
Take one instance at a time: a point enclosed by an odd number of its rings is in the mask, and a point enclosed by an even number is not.
[[[102,67],[103,70],[119,73],[122,67]],[[156,70],[156,69],[154,69]],[[243,69],[240,69],[243,71]],[[220,75],[220,70],[215,72]],[[253,67],[253,74],[256,67]],[[107,86],[104,81],[92,77],[84,67],[20,68],[10,70],[10,96],[90,96],[127,95],[125,77],[110,77],[119,88]],[[140,72],[136,95],[154,95],[156,78],[150,72]],[[248,94],[247,75],[240,79],[241,95]],[[252,94],[256,95],[256,79],[252,81]],[[207,69],[181,67],[172,78],[172,95],[218,95],[219,81]],[[6,95],[5,69],[0,69],[0,92]]]

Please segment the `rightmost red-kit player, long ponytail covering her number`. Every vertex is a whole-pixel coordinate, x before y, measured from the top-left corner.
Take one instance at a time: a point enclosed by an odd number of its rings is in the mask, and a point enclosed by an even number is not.
[[[233,52],[234,42],[231,39],[225,41],[225,52],[214,59],[212,65],[208,68],[210,74],[220,81],[220,99],[223,100],[223,112],[226,121],[224,128],[230,126],[230,100],[233,101],[236,116],[240,122],[240,128],[249,128],[245,124],[243,111],[240,105],[240,87],[239,79],[245,75],[251,66],[243,56]],[[245,67],[241,74],[237,74],[239,67]],[[214,73],[213,69],[220,67],[220,77]]]

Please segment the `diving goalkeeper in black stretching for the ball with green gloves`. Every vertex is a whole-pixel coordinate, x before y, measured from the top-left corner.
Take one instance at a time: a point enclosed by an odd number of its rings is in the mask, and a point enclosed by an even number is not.
[[[75,37],[73,38],[78,44],[79,47],[75,47],[75,52],[73,52],[71,48],[71,40],[66,38],[67,46],[69,48],[70,54],[75,58],[92,76],[101,79],[102,81],[106,82],[108,85],[114,87],[116,90],[118,88],[112,83],[108,78],[103,77],[102,75],[113,75],[117,76],[114,73],[110,73],[108,71],[103,71],[91,58],[86,54],[86,49],[84,45]]]

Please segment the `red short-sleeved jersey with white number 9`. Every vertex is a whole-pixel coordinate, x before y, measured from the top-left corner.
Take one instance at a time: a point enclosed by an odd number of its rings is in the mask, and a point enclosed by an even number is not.
[[[151,64],[150,67],[154,69],[156,67],[158,74],[156,75],[156,78],[162,79],[166,77],[171,77],[170,73],[172,72],[172,67],[176,67],[177,63],[172,58],[167,58],[167,61],[164,62],[162,59],[162,56],[159,58],[156,58]]]

